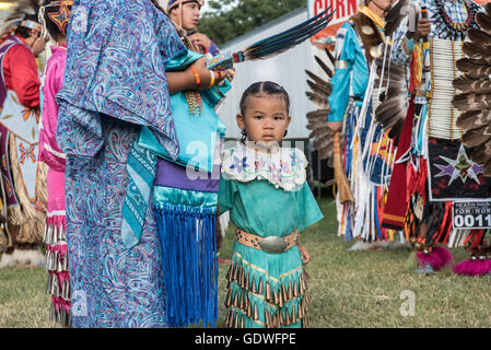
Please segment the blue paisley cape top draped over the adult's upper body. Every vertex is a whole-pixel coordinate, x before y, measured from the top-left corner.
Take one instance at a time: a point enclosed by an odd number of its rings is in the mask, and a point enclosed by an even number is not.
[[[57,98],[82,112],[71,114],[72,120],[60,116],[60,143],[77,142],[74,151],[81,147],[94,155],[103,137],[101,119],[92,112],[100,112],[150,127],[176,155],[165,63],[186,48],[171,20],[150,0],[78,0],[68,32],[67,68]],[[79,125],[91,132],[78,132]],[[66,137],[60,130],[70,132]]]

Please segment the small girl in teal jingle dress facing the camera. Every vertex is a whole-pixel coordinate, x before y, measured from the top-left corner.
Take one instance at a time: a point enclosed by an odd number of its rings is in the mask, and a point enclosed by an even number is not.
[[[300,232],[323,219],[305,182],[302,151],[281,148],[291,117],[280,85],[257,82],[243,94],[241,143],[224,153],[219,211],[235,232],[226,275],[226,327],[305,327],[308,299]]]

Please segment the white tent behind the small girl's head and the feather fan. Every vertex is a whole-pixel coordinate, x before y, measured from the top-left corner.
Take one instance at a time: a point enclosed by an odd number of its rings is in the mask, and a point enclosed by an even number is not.
[[[224,44],[220,49],[232,52],[245,49],[262,38],[281,33],[307,19],[307,9],[300,8]],[[314,54],[322,58],[325,55],[309,40],[306,40],[272,58],[235,65],[236,73],[232,82],[233,88],[226,94],[224,103],[218,110],[220,118],[226,125],[226,138],[236,139],[239,137],[235,116],[238,113],[238,104],[243,92],[254,82],[270,80],[282,85],[290,94],[292,121],[289,127],[288,139],[307,139],[309,131],[306,129],[306,114],[317,107],[305,95],[308,90],[305,69],[320,75],[317,71]]]

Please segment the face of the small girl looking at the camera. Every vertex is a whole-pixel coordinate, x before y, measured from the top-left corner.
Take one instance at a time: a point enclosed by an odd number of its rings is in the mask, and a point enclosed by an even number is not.
[[[290,125],[287,103],[282,95],[248,96],[244,115],[237,115],[237,125],[245,129],[250,141],[279,142]]]

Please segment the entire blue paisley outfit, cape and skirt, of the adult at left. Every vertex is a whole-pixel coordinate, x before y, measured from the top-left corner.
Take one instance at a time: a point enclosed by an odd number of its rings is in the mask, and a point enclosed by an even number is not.
[[[73,327],[166,327],[152,196],[131,249],[121,207],[141,126],[178,152],[164,67],[186,48],[150,0],[75,0],[68,33],[57,140],[67,154]]]

